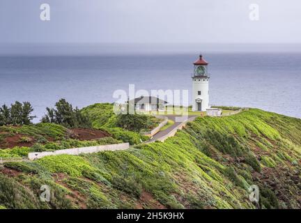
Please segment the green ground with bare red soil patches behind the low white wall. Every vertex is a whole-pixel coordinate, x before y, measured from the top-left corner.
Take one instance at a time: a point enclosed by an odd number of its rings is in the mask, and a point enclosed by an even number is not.
[[[0,157],[21,158],[30,152],[116,144],[108,132],[90,129],[68,129],[53,123],[0,126]]]

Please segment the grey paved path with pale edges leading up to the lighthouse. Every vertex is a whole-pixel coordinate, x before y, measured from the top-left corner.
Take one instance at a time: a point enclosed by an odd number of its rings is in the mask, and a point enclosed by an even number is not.
[[[182,125],[182,123],[184,123],[185,121],[187,121],[188,118],[190,119],[190,121],[193,121],[194,118],[196,118],[197,116],[185,116],[185,117],[183,117],[183,116],[167,115],[166,117],[169,120],[174,121],[173,125],[171,125],[166,130],[157,132],[157,134],[155,134],[150,140],[146,141],[146,143],[151,143],[153,141],[161,139],[162,137],[169,134],[171,131],[178,130],[179,126]]]

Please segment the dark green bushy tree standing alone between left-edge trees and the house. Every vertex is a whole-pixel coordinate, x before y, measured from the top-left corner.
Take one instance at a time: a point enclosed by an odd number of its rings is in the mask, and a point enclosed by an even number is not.
[[[66,128],[90,128],[91,123],[87,116],[82,114],[77,107],[73,109],[65,99],[56,102],[56,109],[46,108],[47,114],[42,118],[42,123],[56,123]]]

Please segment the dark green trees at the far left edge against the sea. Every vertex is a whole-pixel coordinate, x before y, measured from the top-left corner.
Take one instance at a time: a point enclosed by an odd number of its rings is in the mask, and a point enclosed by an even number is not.
[[[2,105],[0,107],[0,126],[1,125],[29,125],[33,118],[36,116],[31,116],[33,108],[29,102],[15,102],[10,107]]]

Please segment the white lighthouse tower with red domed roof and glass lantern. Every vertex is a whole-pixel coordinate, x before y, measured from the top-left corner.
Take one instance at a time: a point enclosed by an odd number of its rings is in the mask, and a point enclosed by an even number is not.
[[[192,111],[206,112],[209,107],[209,74],[207,72],[208,62],[199,56],[194,62],[194,73],[192,75]]]

